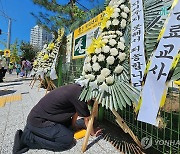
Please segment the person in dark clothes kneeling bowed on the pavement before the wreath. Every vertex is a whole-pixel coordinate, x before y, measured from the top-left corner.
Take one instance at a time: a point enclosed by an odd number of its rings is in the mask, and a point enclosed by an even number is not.
[[[45,95],[31,110],[24,131],[15,135],[13,154],[29,149],[63,151],[75,145],[74,133],[78,116],[84,117],[88,124],[90,112],[87,103],[78,98],[82,87],[71,84],[57,88]],[[91,135],[96,135],[94,129]]]

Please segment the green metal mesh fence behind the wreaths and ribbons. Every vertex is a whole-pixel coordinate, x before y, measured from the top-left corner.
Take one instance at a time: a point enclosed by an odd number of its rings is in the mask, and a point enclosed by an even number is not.
[[[63,64],[63,84],[74,83],[74,79],[80,77],[82,67],[82,60]],[[152,141],[151,148],[154,151],[163,154],[180,154],[180,90],[173,84],[168,89],[166,103],[158,115],[159,127],[137,121],[132,106],[127,106],[123,111],[118,110],[118,113],[140,140],[146,137]],[[105,119],[117,125],[110,110],[105,110],[104,114]]]

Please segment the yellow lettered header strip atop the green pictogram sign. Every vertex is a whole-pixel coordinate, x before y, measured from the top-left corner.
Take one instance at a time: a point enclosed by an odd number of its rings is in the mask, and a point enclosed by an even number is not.
[[[74,31],[74,38],[77,38],[79,35],[84,34],[87,31],[100,26],[100,23],[101,23],[101,21],[103,19],[103,16],[104,16],[104,13],[100,13],[96,17],[94,17],[91,20],[89,20],[88,22],[86,22],[81,27],[77,28]]]

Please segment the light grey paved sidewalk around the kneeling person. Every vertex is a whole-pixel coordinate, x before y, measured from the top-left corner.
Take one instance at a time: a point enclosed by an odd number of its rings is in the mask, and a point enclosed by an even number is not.
[[[14,94],[22,94],[21,101],[6,103],[0,107],[0,154],[12,154],[14,134],[18,129],[24,129],[26,118],[31,108],[45,95],[45,89],[38,92],[38,83],[35,83],[33,89],[29,86],[30,80],[16,78],[15,74],[7,74],[5,82],[0,83],[0,94],[2,90],[13,90]],[[12,95],[8,94],[8,95]],[[5,96],[5,95],[3,95]],[[6,95],[7,96],[7,95]],[[77,141],[76,146],[64,152],[52,152],[47,150],[29,150],[27,154],[80,154],[83,139]],[[105,141],[102,137],[90,137],[88,149],[85,154],[118,154],[119,150],[114,148],[111,143]]]

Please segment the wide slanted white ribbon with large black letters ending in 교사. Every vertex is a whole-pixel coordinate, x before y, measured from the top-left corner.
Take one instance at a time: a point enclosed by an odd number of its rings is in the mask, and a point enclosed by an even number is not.
[[[157,126],[156,117],[166,80],[175,56],[180,49],[180,1],[171,12],[165,33],[152,57],[142,91],[138,120]]]

